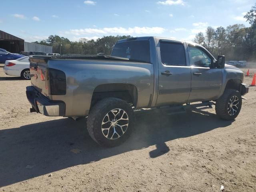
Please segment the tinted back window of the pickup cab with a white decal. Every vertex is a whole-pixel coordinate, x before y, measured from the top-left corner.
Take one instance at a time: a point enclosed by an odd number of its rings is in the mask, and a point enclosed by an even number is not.
[[[111,56],[150,62],[149,41],[128,41],[117,43],[113,48]]]

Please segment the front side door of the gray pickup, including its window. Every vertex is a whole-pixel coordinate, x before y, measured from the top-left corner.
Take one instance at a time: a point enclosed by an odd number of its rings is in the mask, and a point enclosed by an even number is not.
[[[213,56],[200,46],[188,44],[191,93],[188,102],[214,100],[220,95],[223,69],[212,68]]]

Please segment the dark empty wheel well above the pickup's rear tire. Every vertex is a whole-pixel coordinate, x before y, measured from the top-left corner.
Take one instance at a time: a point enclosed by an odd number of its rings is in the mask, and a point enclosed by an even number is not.
[[[136,106],[138,91],[137,88],[132,84],[113,83],[99,85],[94,89],[92,94],[90,108],[94,106],[96,102],[108,97],[120,98],[133,104],[133,106]]]

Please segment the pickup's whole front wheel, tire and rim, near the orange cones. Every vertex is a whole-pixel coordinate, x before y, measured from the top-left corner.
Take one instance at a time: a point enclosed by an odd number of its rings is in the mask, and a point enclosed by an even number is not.
[[[238,90],[227,89],[216,101],[216,114],[224,120],[235,119],[242,107],[242,96]]]

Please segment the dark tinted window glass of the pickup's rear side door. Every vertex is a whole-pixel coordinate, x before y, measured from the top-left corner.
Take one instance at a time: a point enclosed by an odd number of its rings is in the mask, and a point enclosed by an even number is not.
[[[186,66],[186,54],[182,43],[160,42],[160,53],[163,64]]]

